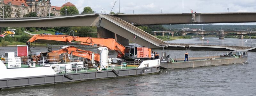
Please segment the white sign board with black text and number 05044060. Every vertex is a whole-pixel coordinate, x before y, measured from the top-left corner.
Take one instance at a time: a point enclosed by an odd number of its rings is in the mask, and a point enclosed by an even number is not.
[[[21,67],[21,60],[20,57],[8,57],[8,68],[20,68]]]

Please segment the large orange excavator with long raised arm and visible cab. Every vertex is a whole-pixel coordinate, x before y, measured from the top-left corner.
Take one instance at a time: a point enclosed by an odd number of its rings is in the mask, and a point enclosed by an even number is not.
[[[126,46],[119,44],[115,39],[112,38],[92,38],[92,37],[79,37],[79,36],[67,36],[67,35],[34,35],[27,41],[28,50],[30,51],[30,44],[34,41],[47,41],[51,43],[53,41],[81,44],[81,45],[94,45],[105,46],[109,50],[115,50],[117,52],[117,57],[128,61],[134,59],[149,59],[150,58],[150,48],[146,47],[135,47]],[[31,52],[31,51],[30,51]]]

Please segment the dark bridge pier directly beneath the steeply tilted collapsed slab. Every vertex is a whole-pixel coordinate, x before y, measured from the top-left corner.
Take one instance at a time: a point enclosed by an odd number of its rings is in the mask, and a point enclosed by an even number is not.
[[[105,28],[102,28],[100,26],[97,27],[97,32],[98,32],[98,37],[99,38],[113,38],[113,39],[116,39],[118,43],[122,44],[122,45],[129,45],[129,40],[122,37],[122,36],[119,36],[116,34],[115,36],[115,33],[105,29]]]

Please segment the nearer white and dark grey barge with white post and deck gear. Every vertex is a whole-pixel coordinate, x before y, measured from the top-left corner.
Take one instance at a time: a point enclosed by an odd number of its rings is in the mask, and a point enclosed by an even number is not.
[[[100,61],[104,61],[104,57],[108,57],[106,55],[108,54],[108,48],[100,47],[99,50],[101,50]],[[7,54],[8,56],[3,56],[0,60],[0,89],[138,76],[160,71],[160,59],[141,60],[137,65],[129,65],[126,61],[120,60],[87,64],[84,63],[84,59],[76,56],[70,57],[72,55],[69,55],[69,61],[66,57],[54,56],[49,59],[49,56],[46,56],[37,59],[38,63],[36,63],[36,61],[29,61],[28,58],[14,56],[14,52]],[[14,63],[14,65],[11,63]]]

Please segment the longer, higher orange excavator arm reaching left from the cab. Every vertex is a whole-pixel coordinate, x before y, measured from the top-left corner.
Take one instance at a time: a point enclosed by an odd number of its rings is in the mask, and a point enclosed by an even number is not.
[[[82,44],[82,45],[94,45],[98,44],[98,46],[106,46],[110,50],[115,50],[118,53],[117,57],[123,57],[125,47],[115,39],[112,38],[92,38],[92,37],[79,37],[79,36],[66,36],[66,35],[35,35],[31,37],[27,44],[34,42],[36,40],[51,40],[51,41],[61,41],[61,42],[68,42],[74,44]],[[75,43],[72,41],[79,41],[79,43]]]

